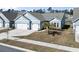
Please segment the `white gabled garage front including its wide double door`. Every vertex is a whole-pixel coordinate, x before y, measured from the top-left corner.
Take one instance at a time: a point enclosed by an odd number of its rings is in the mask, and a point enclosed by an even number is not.
[[[30,20],[25,16],[20,16],[19,18],[15,19],[15,28],[30,30]]]

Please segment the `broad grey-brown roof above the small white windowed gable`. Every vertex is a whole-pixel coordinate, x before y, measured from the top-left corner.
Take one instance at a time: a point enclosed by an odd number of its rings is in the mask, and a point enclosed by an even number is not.
[[[53,18],[62,20],[64,13],[44,13],[42,15],[48,21],[52,20]]]

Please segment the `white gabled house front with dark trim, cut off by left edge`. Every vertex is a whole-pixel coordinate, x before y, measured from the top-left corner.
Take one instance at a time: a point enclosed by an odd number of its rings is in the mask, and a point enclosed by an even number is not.
[[[9,20],[0,12],[0,27],[8,28]]]

